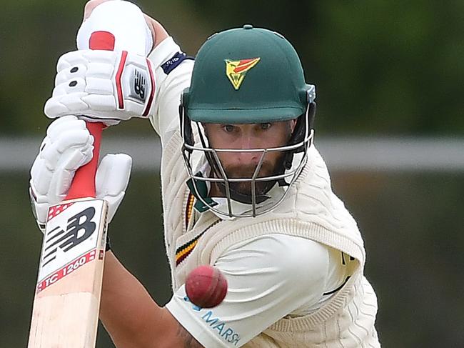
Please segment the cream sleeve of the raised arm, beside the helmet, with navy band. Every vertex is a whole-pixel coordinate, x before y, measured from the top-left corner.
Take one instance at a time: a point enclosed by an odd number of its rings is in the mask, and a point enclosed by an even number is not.
[[[170,36],[148,55],[155,71],[157,95],[150,121],[161,138],[161,144],[179,129],[178,107],[181,94],[190,86],[193,59],[186,57]]]

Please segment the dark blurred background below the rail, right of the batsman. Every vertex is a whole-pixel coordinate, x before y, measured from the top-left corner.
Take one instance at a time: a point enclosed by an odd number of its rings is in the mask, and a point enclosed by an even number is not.
[[[337,173],[365,241],[382,347],[464,347],[464,174]]]

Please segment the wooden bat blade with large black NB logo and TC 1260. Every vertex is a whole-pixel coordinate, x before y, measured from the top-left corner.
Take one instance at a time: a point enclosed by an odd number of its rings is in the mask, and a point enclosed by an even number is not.
[[[42,243],[29,348],[93,348],[99,319],[107,203],[50,207]]]

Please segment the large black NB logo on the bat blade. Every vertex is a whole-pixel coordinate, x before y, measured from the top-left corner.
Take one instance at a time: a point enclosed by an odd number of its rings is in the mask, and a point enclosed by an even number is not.
[[[95,216],[95,208],[89,207],[84,211],[70,217],[66,229],[55,227],[46,234],[44,242],[44,251],[42,258],[42,267],[56,259],[56,252],[61,249],[68,252],[82,242],[89,239],[96,232],[96,224],[92,222]]]

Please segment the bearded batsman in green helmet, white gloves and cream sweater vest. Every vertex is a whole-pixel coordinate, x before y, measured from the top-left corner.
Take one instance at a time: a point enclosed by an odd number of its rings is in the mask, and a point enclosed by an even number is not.
[[[89,1],[87,24],[109,2]],[[31,169],[42,226],[91,159],[81,115],[107,126],[141,117],[161,138],[173,296],[156,304],[107,248],[100,319],[116,347],[380,347],[363,239],[316,149],[316,87],[293,46],[245,24],[210,36],[193,59],[158,21],[145,20],[148,59],[131,51],[61,56],[45,106],[55,120]],[[96,191],[110,219],[130,171],[127,155],[101,161]],[[186,276],[202,264],[228,282],[211,309],[186,296]]]

